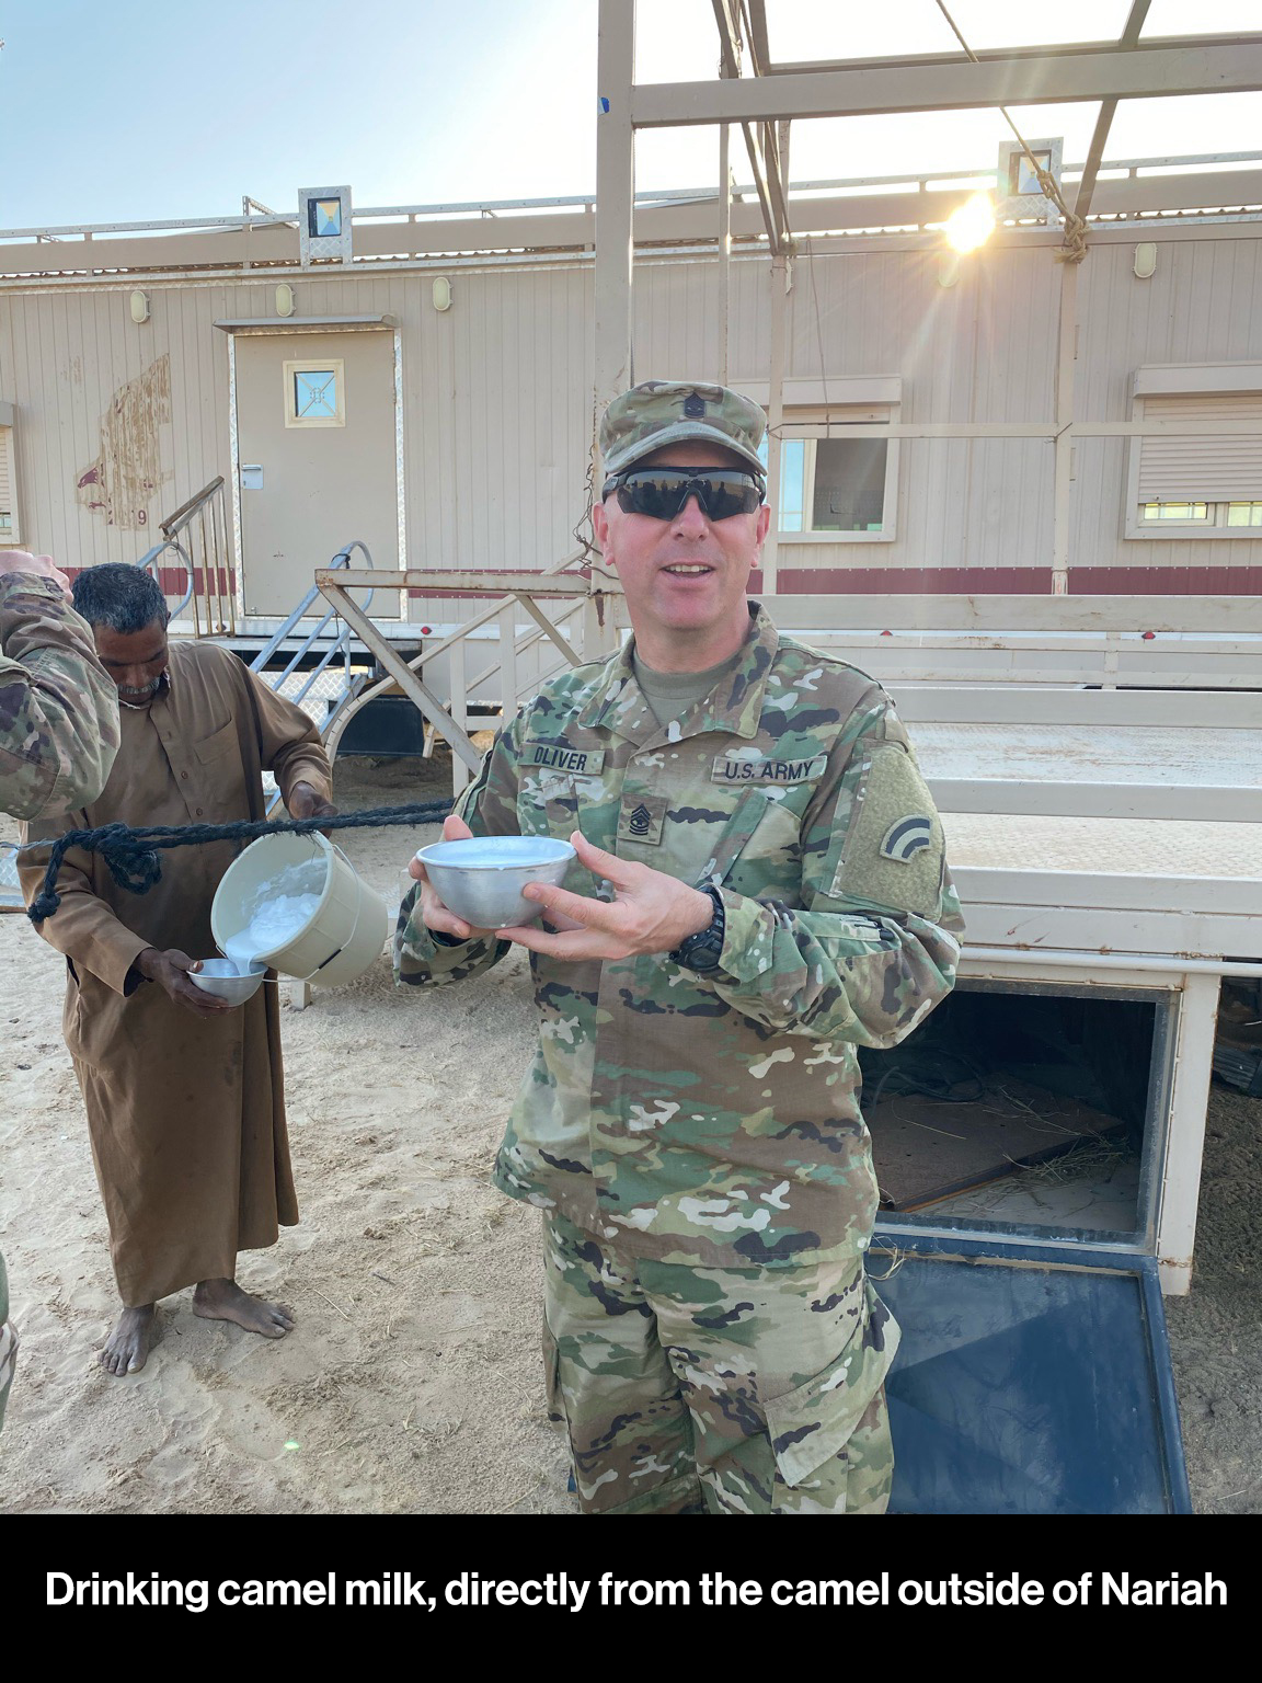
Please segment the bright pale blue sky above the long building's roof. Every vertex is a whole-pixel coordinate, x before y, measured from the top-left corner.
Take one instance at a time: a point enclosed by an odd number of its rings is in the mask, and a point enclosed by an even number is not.
[[[936,0],[771,0],[774,59],[949,52]],[[1129,0],[949,0],[973,47],[1117,35]],[[717,72],[710,0],[639,0],[638,79]],[[0,227],[289,210],[596,187],[597,0],[0,0]],[[1262,30],[1257,0],[1153,0],[1144,39]],[[1085,157],[1097,108],[1015,108],[1026,138]],[[794,123],[796,180],[978,170],[998,111]],[[1262,146],[1262,94],[1122,103],[1111,157]],[[650,131],[641,188],[717,180],[713,130]],[[734,136],[734,168],[747,178]]]

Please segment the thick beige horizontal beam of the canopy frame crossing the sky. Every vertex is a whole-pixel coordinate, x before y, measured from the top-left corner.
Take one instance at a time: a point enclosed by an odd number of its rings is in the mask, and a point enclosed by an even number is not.
[[[602,15],[609,0],[604,0]],[[634,128],[771,123],[777,118],[961,111],[974,106],[1163,99],[1262,89],[1262,35],[1196,47],[994,56],[931,66],[858,66],[633,89]]]

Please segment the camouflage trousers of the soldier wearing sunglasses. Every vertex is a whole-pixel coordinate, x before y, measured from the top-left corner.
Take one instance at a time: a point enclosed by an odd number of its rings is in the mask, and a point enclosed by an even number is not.
[[[544,1224],[549,1405],[584,1513],[883,1513],[899,1328],[863,1259],[720,1269]]]

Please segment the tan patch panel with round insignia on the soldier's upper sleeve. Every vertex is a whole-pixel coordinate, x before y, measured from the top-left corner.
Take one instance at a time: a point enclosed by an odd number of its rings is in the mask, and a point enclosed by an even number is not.
[[[897,742],[877,742],[855,798],[833,895],[936,917],[942,852],[942,821],[915,761]]]

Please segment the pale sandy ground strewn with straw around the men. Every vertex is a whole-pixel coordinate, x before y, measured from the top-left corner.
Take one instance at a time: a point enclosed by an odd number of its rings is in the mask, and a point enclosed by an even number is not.
[[[347,761],[338,799],[434,799],[444,776]],[[432,838],[348,835],[392,904],[399,865]],[[96,1365],[116,1299],[62,976],[24,917],[0,917],[0,1245],[22,1330],[0,1511],[572,1511],[544,1415],[538,1217],[488,1178],[533,1038],[520,958],[422,998],[395,993],[382,959],[284,1010],[303,1222],[239,1277],[298,1328],[268,1343],[197,1319],[182,1293],[125,1380]],[[1262,1101],[1213,1089],[1196,1282],[1168,1304],[1201,1513],[1262,1513],[1260,1124]]]

